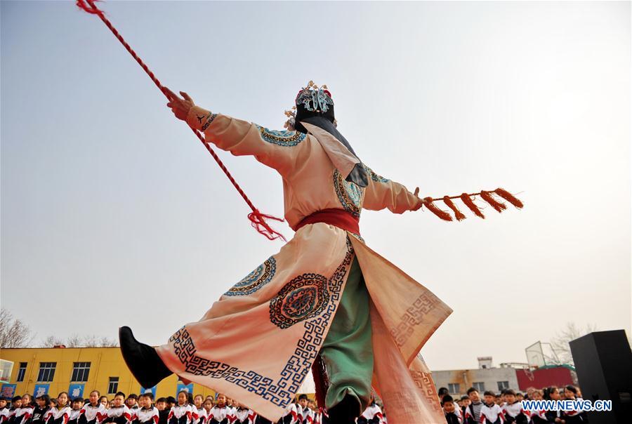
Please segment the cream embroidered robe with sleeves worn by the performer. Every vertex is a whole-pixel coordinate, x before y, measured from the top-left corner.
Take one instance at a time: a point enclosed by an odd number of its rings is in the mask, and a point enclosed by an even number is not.
[[[346,181],[359,161],[316,126],[305,124],[308,134],[272,131],[197,106],[187,122],[204,131],[208,143],[237,156],[252,155],[281,175],[284,216],[293,229],[328,208],[359,218],[363,208],[404,213],[421,207],[406,187],[367,166],[367,187]],[[417,354],[452,310],[371,250],[359,234],[327,223],[301,227],[198,322],[186,324],[157,347],[158,355],[181,379],[225,393],[277,421],[327,336],[354,258],[371,297],[373,387],[388,408],[390,423],[420,418],[442,423],[430,371]]]

